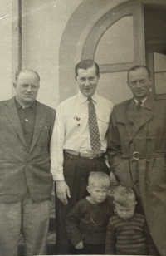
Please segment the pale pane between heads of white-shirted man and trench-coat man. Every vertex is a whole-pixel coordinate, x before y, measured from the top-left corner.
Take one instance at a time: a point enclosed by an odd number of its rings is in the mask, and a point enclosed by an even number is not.
[[[101,74],[97,92],[114,104],[128,100],[133,95],[126,81],[127,72]]]

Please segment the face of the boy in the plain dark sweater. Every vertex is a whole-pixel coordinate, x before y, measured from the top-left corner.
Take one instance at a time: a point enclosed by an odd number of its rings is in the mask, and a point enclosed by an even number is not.
[[[100,204],[105,201],[108,195],[108,188],[100,187],[100,185],[87,186],[90,198],[94,204]]]

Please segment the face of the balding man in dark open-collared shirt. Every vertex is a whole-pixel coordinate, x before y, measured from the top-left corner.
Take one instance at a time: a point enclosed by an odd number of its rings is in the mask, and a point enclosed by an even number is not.
[[[30,71],[22,71],[15,85],[17,101],[22,106],[31,106],[37,98],[39,79],[37,74]]]

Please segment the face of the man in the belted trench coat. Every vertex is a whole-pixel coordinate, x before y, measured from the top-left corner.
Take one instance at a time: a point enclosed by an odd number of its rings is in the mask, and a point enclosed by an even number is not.
[[[148,71],[144,67],[129,72],[128,86],[136,100],[144,100],[149,95],[151,84],[152,81],[149,78]]]

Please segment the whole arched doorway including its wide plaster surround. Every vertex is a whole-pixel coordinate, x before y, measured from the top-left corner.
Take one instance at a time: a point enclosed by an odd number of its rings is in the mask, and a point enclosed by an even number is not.
[[[64,77],[65,72],[73,77],[76,62],[85,58],[93,58],[100,64],[99,94],[114,103],[124,101],[131,96],[126,85],[126,74],[131,66],[147,64],[152,75],[154,76],[154,73],[156,73],[154,80],[158,81],[158,84],[161,84],[162,79],[164,81],[165,58],[164,55],[162,57],[159,55],[159,49],[155,54],[156,50],[152,49],[154,45],[149,44],[148,26],[150,22],[148,21],[152,17],[152,15],[149,15],[152,12],[151,9],[165,10],[166,2],[164,0],[124,0],[121,2],[123,3],[117,5],[114,0],[111,2],[105,0],[102,1],[102,6],[100,6],[101,1],[85,0],[73,13],[61,38],[60,101],[76,93],[74,79],[70,81],[70,77]],[[93,4],[95,12],[91,11],[89,16],[85,16],[85,10],[90,7],[90,4]],[[81,22],[78,20],[76,24],[76,13],[79,11]],[[159,26],[162,24],[162,31],[166,35],[164,20],[158,22],[157,16],[153,19],[156,19]],[[69,35],[71,31],[73,32],[73,27],[75,27],[75,37],[71,35],[73,37],[71,38]],[[157,31],[158,29],[156,29]],[[66,41],[67,35],[68,40]],[[150,40],[152,41],[152,38]],[[157,44],[155,44],[156,46]],[[64,65],[66,61],[68,65]],[[159,66],[159,62],[162,62],[163,69],[154,68],[154,66]],[[66,88],[66,81],[69,82],[67,83],[67,86],[70,86],[69,88]],[[163,84],[164,82],[162,82]],[[156,92],[154,86],[155,83],[151,88],[153,93]],[[159,93],[164,92],[162,88],[158,86]]]

